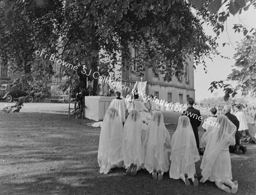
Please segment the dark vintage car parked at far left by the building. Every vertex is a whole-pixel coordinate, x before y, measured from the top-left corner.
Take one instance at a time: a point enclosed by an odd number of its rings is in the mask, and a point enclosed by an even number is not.
[[[16,85],[2,84],[0,85],[0,99],[5,99],[6,102],[12,102],[19,97],[26,96],[27,102],[33,102],[34,98],[31,94],[27,94],[23,90],[19,90]]]

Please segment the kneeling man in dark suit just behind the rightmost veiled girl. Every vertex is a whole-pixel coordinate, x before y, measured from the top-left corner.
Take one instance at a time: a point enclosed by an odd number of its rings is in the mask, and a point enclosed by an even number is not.
[[[235,115],[230,113],[231,111],[231,107],[228,105],[225,105],[223,107],[223,113],[225,116],[227,116],[228,119],[230,119],[231,122],[233,122],[234,125],[236,125],[236,134],[235,134],[235,139],[236,139],[236,145],[234,146],[230,146],[229,150],[230,153],[236,153],[236,154],[240,154],[240,150],[242,151],[242,153],[245,153],[247,151],[246,147],[243,147],[240,145],[240,134],[239,134],[239,120],[236,118]]]

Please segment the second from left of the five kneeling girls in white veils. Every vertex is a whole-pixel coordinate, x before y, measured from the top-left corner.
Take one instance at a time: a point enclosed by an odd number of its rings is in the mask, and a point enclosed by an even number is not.
[[[125,121],[122,144],[126,175],[135,176],[144,163],[142,143],[145,140],[146,128],[147,125],[140,119],[140,113],[131,110]]]

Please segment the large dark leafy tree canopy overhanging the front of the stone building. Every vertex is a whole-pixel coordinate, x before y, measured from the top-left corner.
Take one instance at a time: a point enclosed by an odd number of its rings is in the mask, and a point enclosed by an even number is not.
[[[35,4],[32,0],[26,3],[21,0],[15,3],[6,0],[2,2],[7,5],[4,7],[5,12],[12,8],[15,12],[12,29],[8,34],[6,31],[1,34],[1,39],[5,42],[0,45],[0,51],[4,51],[1,53],[2,57],[9,58],[12,55],[14,71],[17,68],[31,67],[27,68],[26,73],[30,74],[32,71],[32,75],[38,80],[51,74],[53,64],[45,56],[35,57],[34,52],[38,49],[44,49],[49,56],[58,53],[58,59],[73,62],[79,66],[79,70],[83,66],[93,72],[103,68],[100,73],[108,75],[118,62],[117,51],[127,61],[123,65],[129,67],[131,60],[127,51],[128,43],[140,47],[143,42],[145,56],[141,55],[137,59],[143,62],[138,71],[143,73],[148,66],[155,74],[163,74],[167,81],[173,75],[178,77],[183,73],[183,63],[189,54],[194,54],[197,65],[204,63],[204,57],[216,52],[215,39],[204,34],[198,19],[207,18],[206,11],[192,14],[191,5],[185,1],[68,0],[54,5],[51,1],[43,0],[35,1]],[[22,28],[26,28],[24,34],[14,39]],[[26,34],[30,39],[24,39]],[[9,44],[10,42],[18,42],[24,47],[24,52],[28,53],[26,59],[20,59],[18,48],[13,46],[15,44]],[[105,56],[99,56],[101,49],[105,51]],[[12,54],[12,51],[15,53]],[[100,62],[106,56],[111,59],[111,63]],[[23,66],[20,65],[21,62]],[[55,76],[66,76],[66,84],[70,87],[79,85],[88,77],[95,81],[96,95],[97,79],[77,72],[74,74],[62,67]]]

